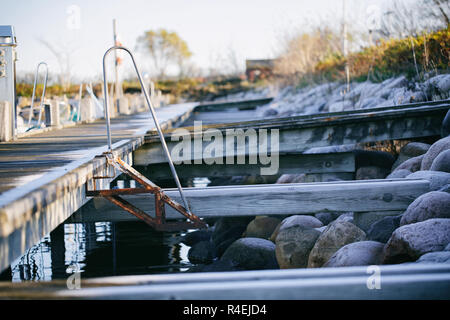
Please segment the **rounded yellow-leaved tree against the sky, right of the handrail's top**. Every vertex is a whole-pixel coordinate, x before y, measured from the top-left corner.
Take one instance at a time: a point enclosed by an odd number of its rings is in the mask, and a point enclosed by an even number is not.
[[[171,66],[178,67],[179,76],[184,75],[186,62],[192,53],[176,32],[165,29],[145,31],[137,39],[137,44],[138,49],[149,54],[159,78],[164,78]]]

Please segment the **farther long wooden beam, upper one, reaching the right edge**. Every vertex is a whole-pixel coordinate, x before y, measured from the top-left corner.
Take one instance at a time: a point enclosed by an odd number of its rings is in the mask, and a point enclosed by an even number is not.
[[[267,120],[261,122],[251,121],[242,123],[228,123],[221,125],[206,125],[198,132],[192,127],[183,128],[184,131],[168,131],[166,142],[172,152],[172,158],[177,152],[172,150],[180,141],[190,144],[190,153],[178,154],[179,161],[202,161],[212,159],[215,155],[205,152],[207,146],[216,141],[211,138],[208,129],[217,129],[222,135],[222,141],[217,142],[225,155],[241,156],[268,153],[301,153],[313,147],[331,145],[355,144],[375,142],[382,140],[413,139],[419,137],[439,136],[442,120],[450,105],[448,103],[431,106],[393,107],[379,111],[375,109],[346,112],[344,115],[320,114],[315,117],[297,117],[289,121]],[[233,129],[231,129],[233,128]],[[238,130],[240,129],[240,130]],[[261,130],[267,130],[269,140],[278,141],[278,144],[268,143],[267,150],[255,149],[248,138],[251,130],[255,130],[256,139],[261,140]],[[226,139],[227,130],[233,130],[231,139]],[[146,144],[134,154],[136,163],[141,165],[166,162],[160,143],[156,137],[147,135]],[[238,143],[239,139],[244,141]],[[197,145],[197,147],[196,147]],[[205,150],[206,149],[206,150]],[[217,157],[217,156],[216,156]]]

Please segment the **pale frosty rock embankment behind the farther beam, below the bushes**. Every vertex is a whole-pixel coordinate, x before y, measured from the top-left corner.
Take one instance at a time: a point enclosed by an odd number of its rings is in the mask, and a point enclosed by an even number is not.
[[[278,90],[271,103],[258,108],[258,113],[264,118],[288,117],[450,98],[449,74],[430,75],[423,82],[411,81],[405,76],[381,83],[352,82],[350,91],[343,95],[346,86],[345,83],[328,82],[303,88],[284,87]],[[268,92],[275,91],[272,88]]]

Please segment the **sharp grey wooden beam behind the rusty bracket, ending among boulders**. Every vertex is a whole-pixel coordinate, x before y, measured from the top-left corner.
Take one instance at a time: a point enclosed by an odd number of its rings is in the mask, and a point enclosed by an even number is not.
[[[429,191],[427,180],[358,180],[345,182],[185,188],[191,210],[199,217],[312,214],[321,211],[366,212],[405,210]],[[178,191],[165,193],[180,201]],[[124,196],[154,216],[152,195]],[[79,210],[68,222],[127,221],[133,216],[107,200],[96,198],[97,210]],[[166,206],[167,219],[182,216]]]

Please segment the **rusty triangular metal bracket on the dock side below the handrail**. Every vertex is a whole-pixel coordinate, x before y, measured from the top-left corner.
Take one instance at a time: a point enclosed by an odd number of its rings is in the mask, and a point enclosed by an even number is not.
[[[130,178],[134,179],[142,187],[140,188],[123,188],[123,189],[106,189],[106,190],[96,190],[94,183],[94,190],[86,189],[86,196],[89,197],[103,197],[113,204],[119,206],[125,211],[136,216],[140,220],[147,223],[152,228],[158,231],[175,231],[183,229],[197,229],[206,228],[207,224],[197,217],[192,212],[186,210],[181,204],[177,203],[169,196],[167,196],[162,189],[154,184],[152,181],[144,177],[141,173],[135,170],[132,166],[128,165],[126,162],[122,161],[117,156],[114,156],[112,152],[105,152],[103,154],[107,159],[107,164],[111,165],[115,170],[126,174]],[[112,177],[93,177],[93,179],[106,179]],[[87,185],[86,185],[87,186]],[[149,216],[146,212],[135,207],[125,199],[121,198],[121,195],[132,195],[138,193],[150,193],[155,196],[155,217]],[[165,214],[165,204],[177,210],[183,216],[185,216],[187,221],[174,221],[167,222]]]

